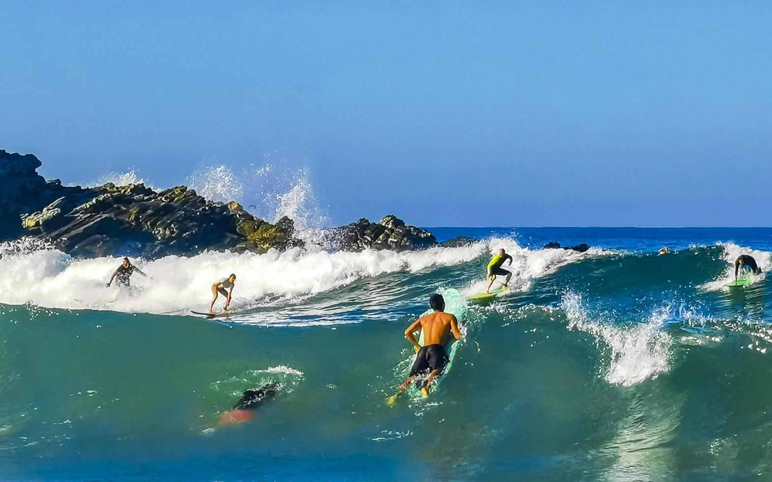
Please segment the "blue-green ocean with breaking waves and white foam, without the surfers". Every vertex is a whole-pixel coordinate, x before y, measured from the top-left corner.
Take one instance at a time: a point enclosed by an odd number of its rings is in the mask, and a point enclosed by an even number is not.
[[[0,244],[0,478],[772,480],[772,228],[428,229],[476,241],[135,259],[131,288],[104,287],[119,258]],[[405,328],[499,248],[510,292],[387,406]],[[740,254],[764,272],[726,288]],[[232,272],[238,311],[191,315]]]

